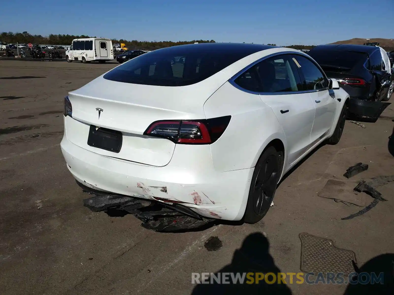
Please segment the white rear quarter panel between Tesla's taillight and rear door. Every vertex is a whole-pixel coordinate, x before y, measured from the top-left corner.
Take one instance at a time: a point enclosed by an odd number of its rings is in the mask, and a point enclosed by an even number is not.
[[[206,118],[231,115],[223,135],[210,145],[217,171],[254,167],[267,144],[276,138],[286,147],[281,125],[258,94],[244,92],[226,82],[205,102],[204,111]]]

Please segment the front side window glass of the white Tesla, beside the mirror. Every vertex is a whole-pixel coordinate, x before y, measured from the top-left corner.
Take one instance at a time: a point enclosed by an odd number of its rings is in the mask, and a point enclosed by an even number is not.
[[[305,79],[305,90],[320,90],[328,87],[322,71],[308,58],[294,55],[294,61]]]

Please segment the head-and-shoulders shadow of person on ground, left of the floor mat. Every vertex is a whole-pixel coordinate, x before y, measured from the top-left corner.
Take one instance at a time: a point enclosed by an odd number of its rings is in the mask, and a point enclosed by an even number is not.
[[[272,256],[269,254],[269,242],[267,238],[260,232],[250,234],[245,238],[242,247],[237,249],[232,258],[231,264],[223,267],[218,273],[233,273],[235,276],[240,273],[253,273],[253,278],[256,278],[255,273],[274,273],[275,276],[281,270],[275,265]],[[216,277],[218,277],[216,273]],[[216,280],[208,279],[209,284],[198,284],[192,291],[192,295],[209,295],[209,294],[280,294],[291,295],[292,292],[286,284],[278,284],[278,281],[273,281],[273,277],[269,276],[268,282],[266,280],[259,280],[258,284],[247,284],[248,280],[245,277],[243,284],[233,283],[231,276],[228,275],[229,284],[223,284],[221,278],[220,284]],[[211,284],[213,282],[213,284]]]

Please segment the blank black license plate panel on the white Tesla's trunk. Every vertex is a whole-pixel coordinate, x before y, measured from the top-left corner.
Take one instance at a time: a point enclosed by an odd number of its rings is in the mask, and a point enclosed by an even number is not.
[[[120,131],[100,128],[90,125],[87,145],[119,153],[122,147],[122,133]]]

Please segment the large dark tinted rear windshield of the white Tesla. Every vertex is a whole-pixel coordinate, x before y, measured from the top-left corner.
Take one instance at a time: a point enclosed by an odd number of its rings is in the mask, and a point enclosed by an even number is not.
[[[157,86],[191,85],[260,50],[258,46],[217,43],[173,46],[131,59],[105,74],[104,79]]]

